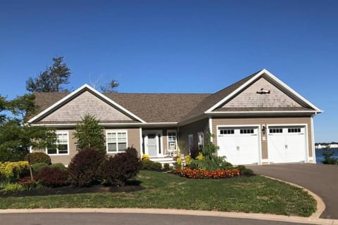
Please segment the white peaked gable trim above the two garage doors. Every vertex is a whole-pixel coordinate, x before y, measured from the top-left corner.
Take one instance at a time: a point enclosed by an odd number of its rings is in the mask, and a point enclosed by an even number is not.
[[[225,96],[225,98],[223,98],[221,101],[219,101],[218,103],[216,103],[215,105],[213,105],[213,107],[211,107],[208,110],[206,110],[205,113],[211,113],[213,110],[215,110],[215,108],[218,108],[220,105],[222,105],[227,100],[229,100],[230,98],[232,98],[232,96],[238,94],[239,91],[242,91],[242,89],[246,88],[246,86],[249,86],[249,84],[251,84],[256,79],[258,79],[258,77],[261,77],[264,74],[268,75],[268,77],[270,77],[275,82],[277,82],[277,84],[280,84],[284,89],[286,89],[291,94],[293,94],[294,96],[296,96],[297,98],[299,98],[299,100],[303,101],[303,103],[306,103],[306,105],[309,105],[311,108],[313,108],[315,110],[316,113],[323,113],[323,110],[320,110],[319,108],[315,107],[315,105],[313,105],[310,101],[308,101],[305,98],[303,98],[300,94],[298,94],[292,88],[290,88],[289,86],[287,86],[287,84],[284,84],[284,82],[282,82],[280,79],[278,79],[272,73],[268,72],[268,70],[265,70],[265,69],[263,69],[260,72],[258,72],[256,75],[254,75],[253,77],[251,77],[251,79],[249,79],[244,84],[242,84],[241,86],[239,86],[239,88],[237,88],[236,90],[232,91],[232,93],[230,93],[229,95]]]

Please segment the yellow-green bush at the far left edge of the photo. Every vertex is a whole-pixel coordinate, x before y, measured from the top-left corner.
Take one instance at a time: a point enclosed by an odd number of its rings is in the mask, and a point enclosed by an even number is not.
[[[0,180],[17,181],[20,177],[29,174],[28,162],[0,162]]]

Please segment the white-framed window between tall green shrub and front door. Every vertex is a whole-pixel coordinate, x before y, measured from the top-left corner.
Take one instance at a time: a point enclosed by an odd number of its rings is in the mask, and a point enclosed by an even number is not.
[[[127,149],[127,131],[107,131],[107,152],[118,153]]]

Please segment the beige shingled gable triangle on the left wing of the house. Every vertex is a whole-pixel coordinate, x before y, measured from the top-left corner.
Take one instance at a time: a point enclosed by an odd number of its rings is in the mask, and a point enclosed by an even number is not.
[[[81,121],[86,114],[94,115],[103,122],[110,120],[132,121],[130,117],[113,108],[113,106],[94,96],[89,91],[84,91],[80,96],[44,117],[41,122]]]

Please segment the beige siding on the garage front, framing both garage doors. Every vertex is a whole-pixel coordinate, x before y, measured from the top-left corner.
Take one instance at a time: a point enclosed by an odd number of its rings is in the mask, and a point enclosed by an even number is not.
[[[213,143],[217,144],[217,126],[222,125],[246,125],[246,124],[261,124],[268,129],[268,125],[273,124],[306,124],[306,139],[308,141],[308,158],[313,157],[312,146],[312,129],[311,129],[311,117],[258,117],[258,118],[213,118]],[[261,131],[261,148],[262,148],[262,160],[268,159],[268,131],[263,134]],[[265,136],[265,140],[263,137]]]

